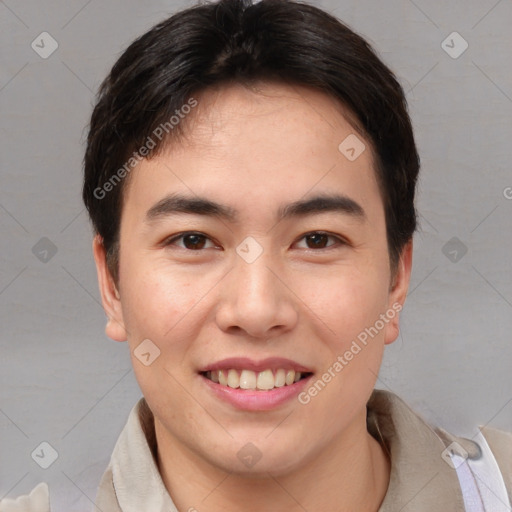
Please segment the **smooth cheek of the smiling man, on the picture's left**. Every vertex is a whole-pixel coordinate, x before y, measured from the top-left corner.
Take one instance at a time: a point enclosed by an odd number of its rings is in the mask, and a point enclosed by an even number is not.
[[[187,406],[181,383],[190,379],[190,369],[183,361],[197,337],[195,326],[200,322],[190,320],[197,318],[198,308],[194,306],[201,294],[194,293],[198,290],[182,272],[170,272],[162,265],[144,266],[135,258],[124,263],[123,279],[128,284],[123,289],[123,317],[135,377],[150,407],[155,411],[162,408],[167,416],[170,414],[168,420],[174,421],[181,416],[169,411],[185,410]],[[145,340],[151,343],[141,345],[148,343]],[[142,351],[139,347],[143,346],[149,348]],[[142,356],[147,352],[148,365]]]

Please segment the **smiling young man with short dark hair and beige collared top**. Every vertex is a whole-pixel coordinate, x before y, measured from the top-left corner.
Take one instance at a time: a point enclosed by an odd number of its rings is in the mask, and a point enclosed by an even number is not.
[[[456,438],[374,390],[418,170],[392,72],[316,7],[221,0],[126,50],[83,198],[144,398],[98,510],[510,510],[512,435]]]

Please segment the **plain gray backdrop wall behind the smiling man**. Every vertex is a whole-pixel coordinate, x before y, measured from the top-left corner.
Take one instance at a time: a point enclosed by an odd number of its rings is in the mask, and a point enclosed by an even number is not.
[[[317,4],[395,70],[422,157],[412,284],[377,386],[460,435],[512,430],[512,3]],[[104,334],[80,198],[85,127],[127,44],[188,5],[0,1],[0,499],[46,481],[55,511],[89,510],[141,396],[126,344]],[[47,59],[31,48],[43,31],[59,45]],[[458,58],[441,46],[453,31],[469,45]],[[53,256],[33,253],[42,237]],[[46,470],[31,458],[42,441],[58,452]]]

